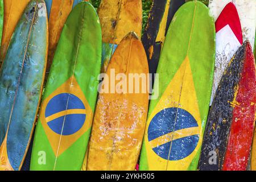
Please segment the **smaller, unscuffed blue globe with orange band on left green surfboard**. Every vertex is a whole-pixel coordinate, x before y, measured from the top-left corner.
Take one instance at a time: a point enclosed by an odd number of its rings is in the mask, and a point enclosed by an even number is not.
[[[84,126],[85,106],[79,97],[61,93],[48,102],[45,117],[50,119],[47,125],[52,131],[59,135],[72,135]]]

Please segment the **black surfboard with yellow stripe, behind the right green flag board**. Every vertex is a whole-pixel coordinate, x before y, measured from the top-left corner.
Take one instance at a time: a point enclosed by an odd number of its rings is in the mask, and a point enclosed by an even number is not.
[[[189,0],[155,0],[148,16],[147,27],[142,37],[142,43],[147,53],[148,66],[151,74],[156,73],[160,53],[171,20],[176,11]],[[191,0],[190,0],[191,1]],[[201,0],[208,5],[208,0]],[[154,75],[152,75],[154,84]]]

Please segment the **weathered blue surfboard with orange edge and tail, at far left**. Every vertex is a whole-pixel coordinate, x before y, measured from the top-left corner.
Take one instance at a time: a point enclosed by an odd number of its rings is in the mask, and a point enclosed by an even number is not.
[[[28,3],[0,71],[0,170],[19,170],[26,156],[42,94],[48,53],[44,1]]]

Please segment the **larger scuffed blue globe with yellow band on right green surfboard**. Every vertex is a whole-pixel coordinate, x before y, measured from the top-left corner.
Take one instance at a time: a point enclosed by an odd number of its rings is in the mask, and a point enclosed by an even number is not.
[[[184,159],[195,150],[199,142],[199,135],[185,136],[173,140],[160,137],[167,134],[172,136],[173,132],[181,134],[183,129],[193,127],[197,129],[198,124],[188,111],[176,107],[167,108],[161,110],[151,120],[148,126],[148,142],[160,139],[158,140],[160,141],[158,146],[152,146],[152,150],[163,159]]]

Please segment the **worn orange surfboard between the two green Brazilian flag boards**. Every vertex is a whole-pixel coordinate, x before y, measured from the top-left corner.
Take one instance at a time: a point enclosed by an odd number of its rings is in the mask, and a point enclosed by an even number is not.
[[[119,80],[117,84],[110,83],[113,71]],[[136,76],[134,79],[131,74],[138,74],[142,80],[137,82],[137,88]],[[134,171],[146,126],[149,94],[147,56],[141,40],[133,32],[117,47],[106,75],[94,115],[87,170]],[[120,90],[113,92],[111,85]]]

